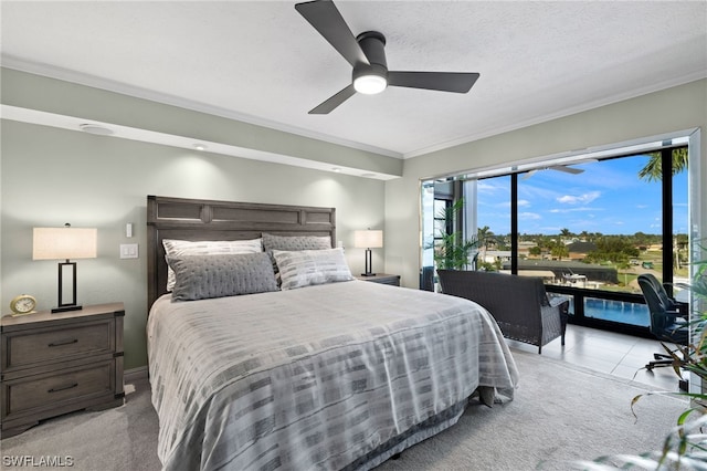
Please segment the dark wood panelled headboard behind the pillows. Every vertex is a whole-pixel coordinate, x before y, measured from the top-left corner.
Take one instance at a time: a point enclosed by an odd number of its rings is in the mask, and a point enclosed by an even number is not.
[[[336,209],[306,206],[147,197],[147,308],[167,292],[162,239],[247,240],[329,236],[336,247]]]

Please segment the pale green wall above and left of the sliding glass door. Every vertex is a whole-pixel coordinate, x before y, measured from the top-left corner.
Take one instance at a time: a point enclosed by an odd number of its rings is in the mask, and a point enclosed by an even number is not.
[[[701,166],[692,191],[700,191],[693,202],[701,206],[693,222],[707,237],[707,80],[700,80],[404,160],[403,178],[386,185],[386,270],[400,273],[405,286],[419,285],[421,179],[695,129],[700,157],[690,165]]]

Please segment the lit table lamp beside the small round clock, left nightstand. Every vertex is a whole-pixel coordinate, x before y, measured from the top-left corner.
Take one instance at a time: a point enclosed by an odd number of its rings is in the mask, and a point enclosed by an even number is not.
[[[52,313],[78,311],[76,304],[76,262],[72,259],[96,258],[96,229],[72,228],[66,223],[63,228],[34,228],[32,260],[65,260],[59,263],[59,306]],[[64,302],[64,271],[72,275],[72,299]]]

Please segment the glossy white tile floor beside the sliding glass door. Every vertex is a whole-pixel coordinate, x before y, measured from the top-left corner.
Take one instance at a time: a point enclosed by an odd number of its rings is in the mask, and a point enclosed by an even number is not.
[[[511,348],[537,353],[538,348],[520,342],[507,341]],[[598,371],[616,375],[647,384],[661,390],[679,390],[678,378],[673,368],[659,367],[653,371],[642,369],[662,352],[657,341],[568,325],[564,347],[556,338],[542,347],[542,356],[581,365]],[[685,375],[687,377],[687,375]]]

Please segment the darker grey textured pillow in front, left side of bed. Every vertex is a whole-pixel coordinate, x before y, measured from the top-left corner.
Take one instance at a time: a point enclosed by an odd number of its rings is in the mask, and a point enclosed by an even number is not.
[[[167,259],[175,270],[172,300],[277,291],[275,273],[265,252],[226,255],[182,255]]]

